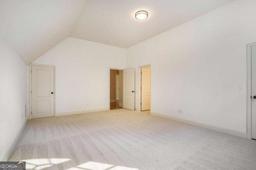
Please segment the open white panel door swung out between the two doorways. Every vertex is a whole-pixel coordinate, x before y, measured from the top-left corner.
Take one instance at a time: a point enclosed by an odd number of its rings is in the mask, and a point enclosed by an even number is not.
[[[134,110],[134,68],[123,70],[123,108]]]

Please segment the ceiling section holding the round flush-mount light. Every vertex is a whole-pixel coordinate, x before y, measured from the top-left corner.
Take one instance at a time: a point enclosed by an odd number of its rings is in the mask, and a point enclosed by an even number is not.
[[[71,37],[128,48],[232,1],[88,0]],[[136,20],[139,10],[146,20]]]

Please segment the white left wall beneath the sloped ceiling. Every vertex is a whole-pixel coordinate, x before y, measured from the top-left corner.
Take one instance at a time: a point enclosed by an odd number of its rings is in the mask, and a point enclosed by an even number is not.
[[[26,121],[21,119],[27,100],[26,80],[26,64],[0,37],[0,160]]]

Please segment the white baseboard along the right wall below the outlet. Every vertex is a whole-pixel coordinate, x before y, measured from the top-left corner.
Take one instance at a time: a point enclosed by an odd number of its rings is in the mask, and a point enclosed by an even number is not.
[[[190,125],[204,127],[206,129],[211,129],[211,130],[214,130],[214,131],[219,131],[219,132],[222,132],[222,133],[227,133],[227,134],[238,136],[238,137],[242,137],[242,138],[247,138],[247,133],[240,132],[240,131],[234,131],[232,129],[226,129],[226,128],[223,128],[223,127],[218,127],[218,126],[214,126],[214,125],[208,125],[208,124],[204,124],[204,123],[200,123],[200,122],[196,122],[196,121],[190,121],[190,120],[187,120],[187,119],[182,119],[182,118],[178,118],[178,117],[174,117],[174,116],[170,116],[170,115],[164,115],[164,114],[161,114],[161,113],[151,112],[150,114],[158,116],[158,117],[172,119],[174,121],[180,121],[182,123],[188,123]]]

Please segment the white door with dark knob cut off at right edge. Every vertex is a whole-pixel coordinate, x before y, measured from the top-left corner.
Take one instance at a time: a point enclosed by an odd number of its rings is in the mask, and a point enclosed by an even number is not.
[[[252,46],[252,139],[256,139],[256,46]]]

